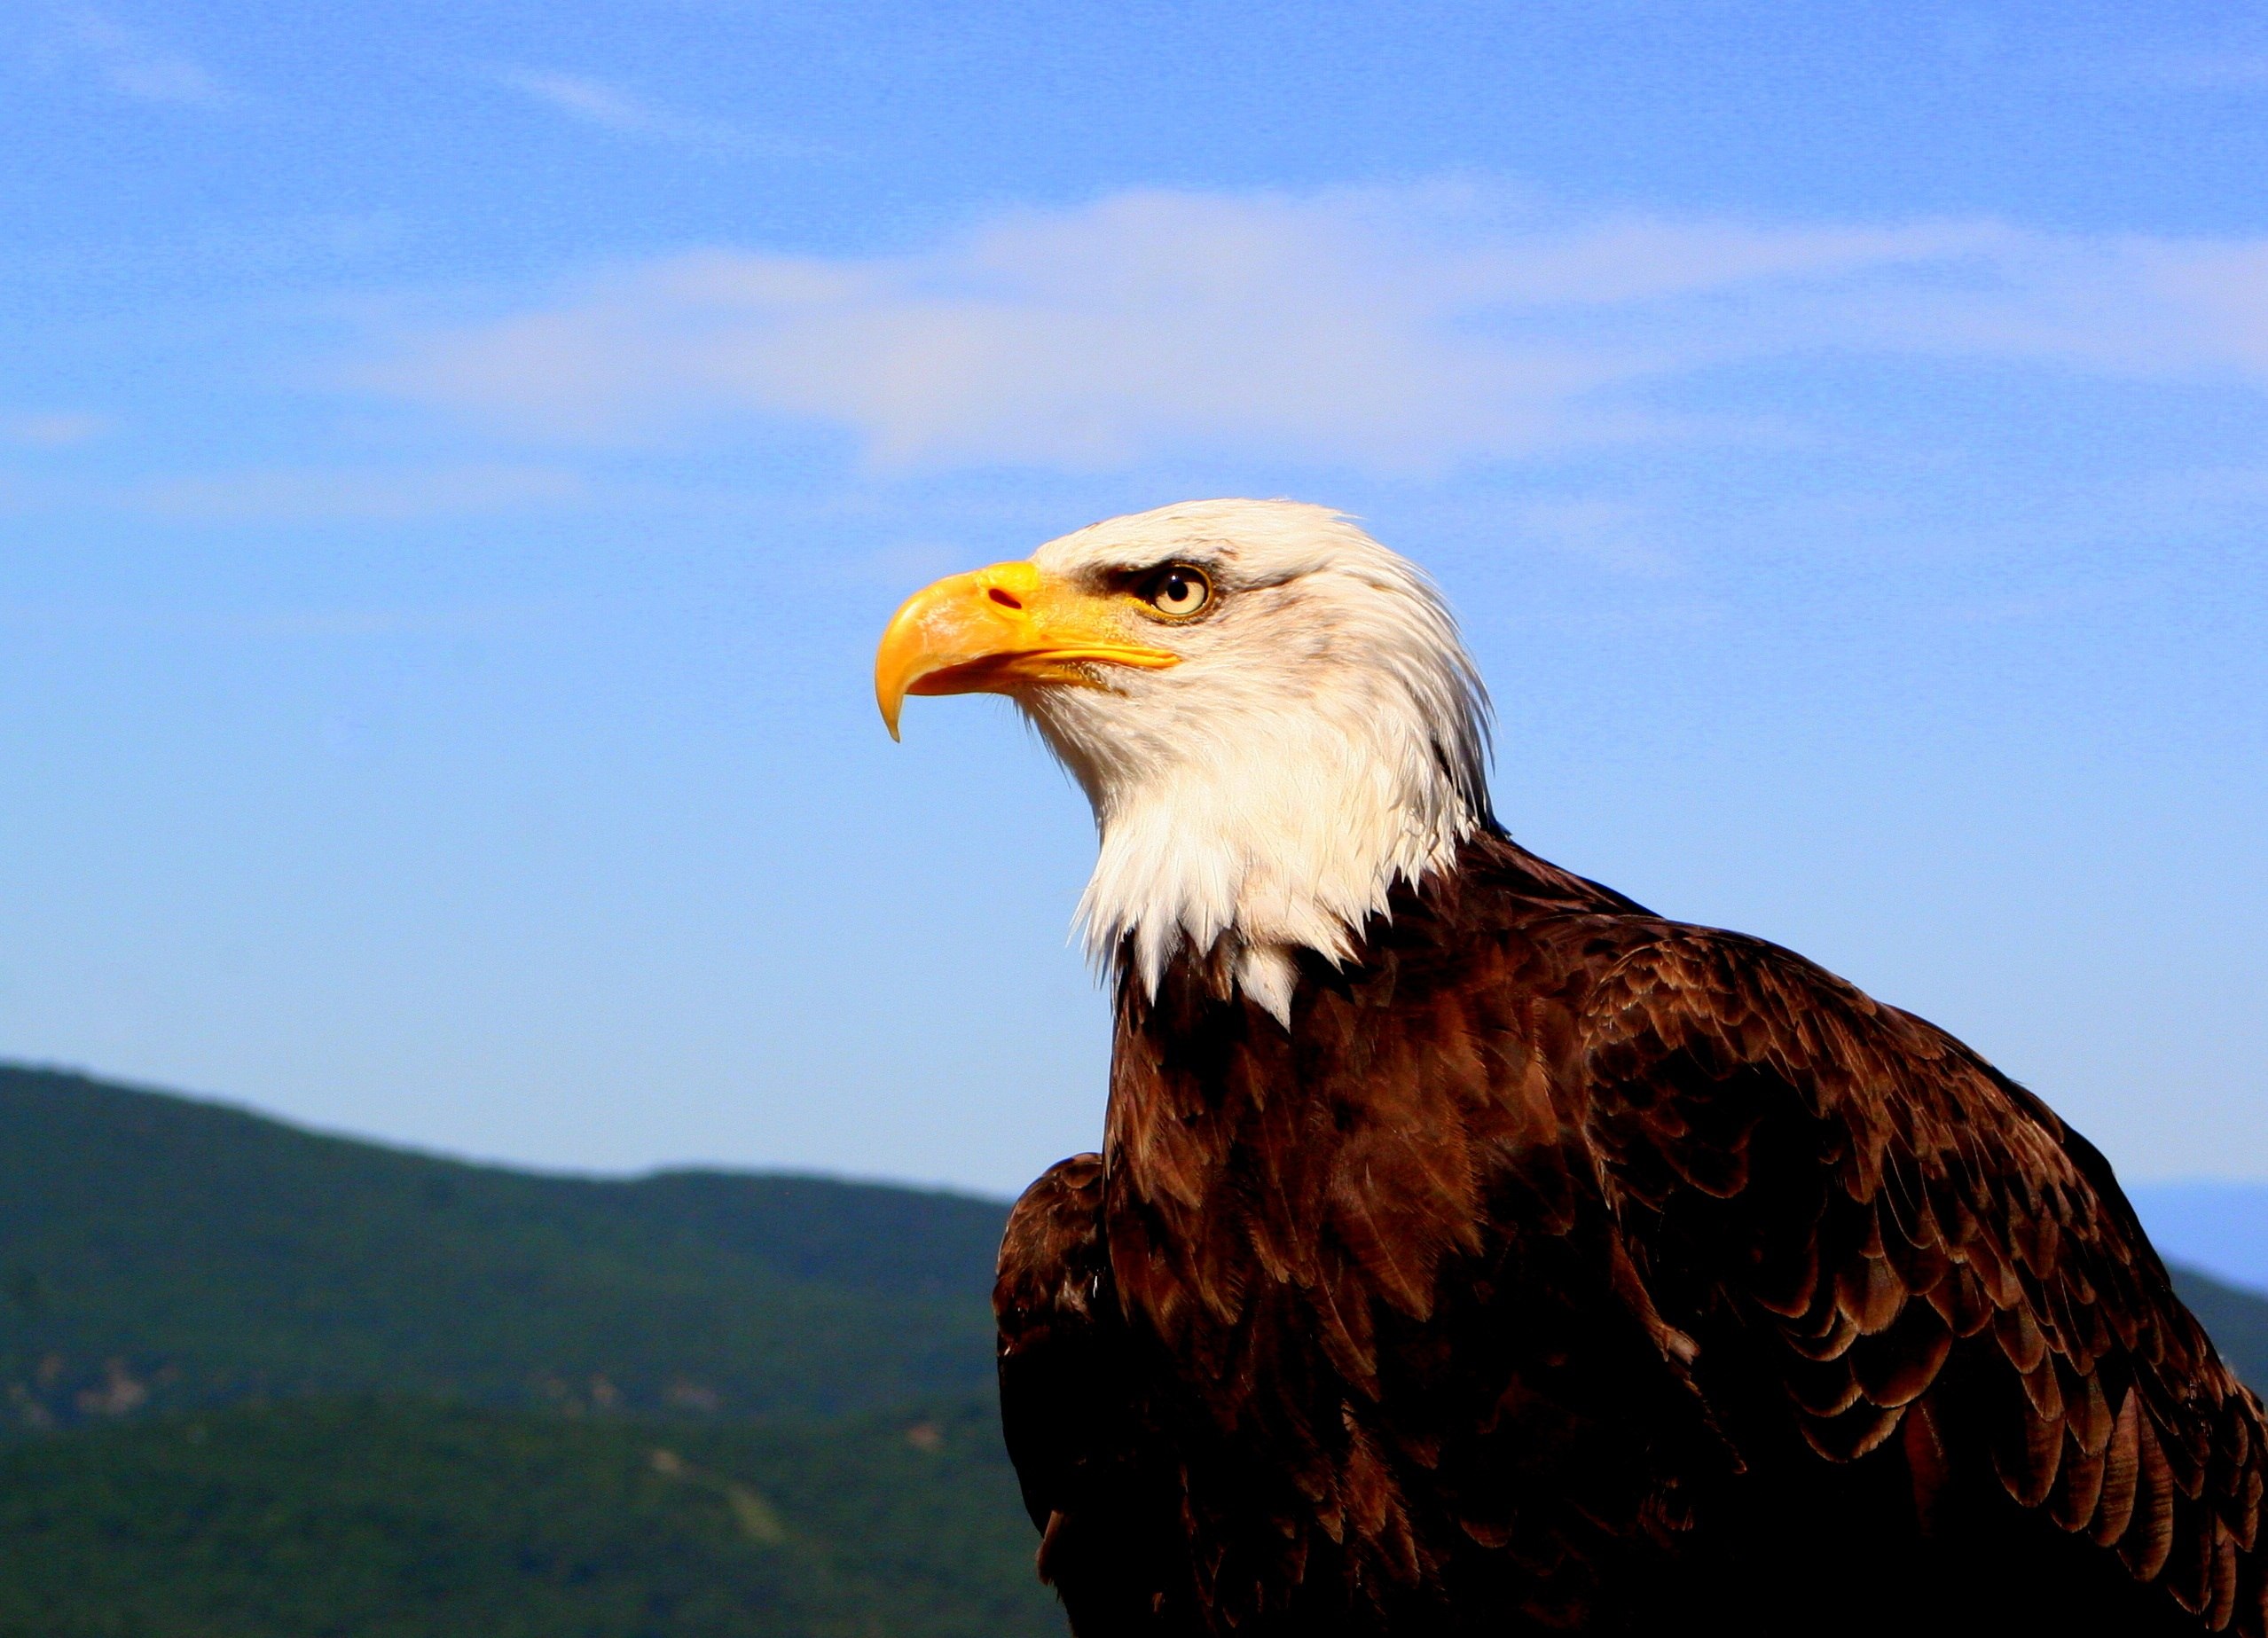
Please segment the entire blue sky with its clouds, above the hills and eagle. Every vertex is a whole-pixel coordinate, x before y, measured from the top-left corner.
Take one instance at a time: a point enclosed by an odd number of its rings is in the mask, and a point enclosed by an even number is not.
[[[0,1050],[553,1166],[1089,1146],[907,590],[1297,495],[1515,835],[2268,1177],[2268,16],[0,14]]]

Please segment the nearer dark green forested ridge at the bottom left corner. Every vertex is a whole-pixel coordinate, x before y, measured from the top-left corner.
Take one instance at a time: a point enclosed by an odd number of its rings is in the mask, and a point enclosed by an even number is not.
[[[1041,1638],[984,1402],[828,1429],[302,1400],[0,1450],[0,1638]]]

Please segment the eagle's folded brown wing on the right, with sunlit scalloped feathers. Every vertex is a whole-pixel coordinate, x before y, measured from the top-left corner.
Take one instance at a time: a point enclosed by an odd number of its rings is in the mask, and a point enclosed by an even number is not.
[[[1576,1066],[1608,1205],[1706,1339],[1706,1393],[1762,1375],[1830,1463],[1901,1441],[1923,1527],[1987,1486],[2207,1629],[2261,1631],[2261,1404],[2043,1103],[1810,962],[1694,928],[1601,976]]]

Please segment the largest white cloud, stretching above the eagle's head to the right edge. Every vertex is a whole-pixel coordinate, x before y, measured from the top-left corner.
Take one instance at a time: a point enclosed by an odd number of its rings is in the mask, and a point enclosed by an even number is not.
[[[846,429],[880,465],[1236,449],[1427,472],[1674,431],[1628,388],[1819,352],[2268,383],[2268,240],[1127,193],[903,256],[667,256],[401,336],[361,381],[594,442],[758,415]]]

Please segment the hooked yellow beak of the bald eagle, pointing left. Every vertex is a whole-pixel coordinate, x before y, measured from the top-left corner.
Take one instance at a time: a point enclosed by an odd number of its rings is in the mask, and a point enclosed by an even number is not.
[[[1093,665],[1159,672],[1182,656],[1132,642],[1123,610],[1030,563],[953,574],[905,599],[873,656],[889,737],[907,694],[1012,694],[1030,683],[1093,685]]]

